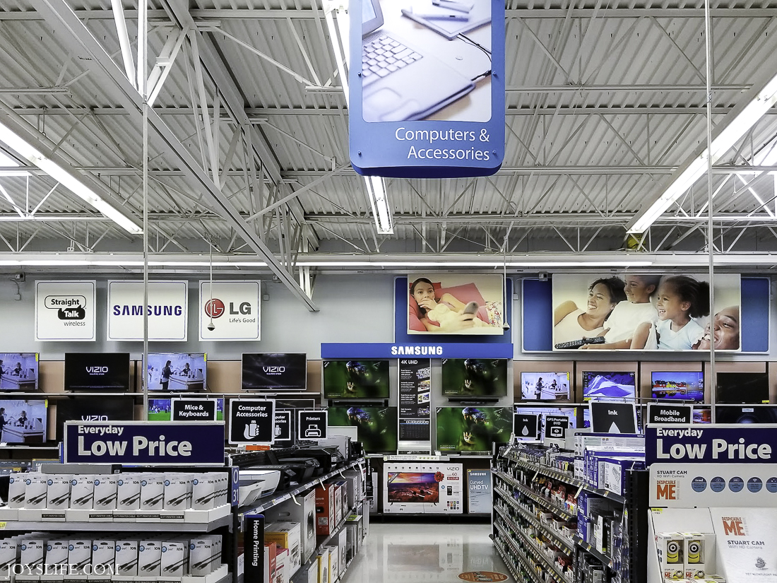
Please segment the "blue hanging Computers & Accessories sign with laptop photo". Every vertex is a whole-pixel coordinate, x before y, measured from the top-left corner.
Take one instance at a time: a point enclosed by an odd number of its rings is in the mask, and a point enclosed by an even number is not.
[[[350,2],[350,161],[357,173],[496,173],[504,154],[504,35],[504,2],[497,0]]]

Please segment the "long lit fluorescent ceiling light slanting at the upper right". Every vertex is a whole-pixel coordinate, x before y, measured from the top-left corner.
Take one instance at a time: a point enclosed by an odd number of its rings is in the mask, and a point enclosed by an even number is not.
[[[640,211],[632,219],[632,224],[627,232],[645,232],[664,211],[677,201],[692,185],[699,180],[708,167],[707,157],[712,153],[712,163],[720,160],[721,156],[728,152],[737,141],[754,126],[764,113],[777,103],[777,75],[772,77],[761,89],[751,91],[750,99],[743,106],[737,107],[721,124],[716,137],[708,148],[704,148],[699,155],[678,169],[676,176],[667,186],[664,193],[653,202],[649,208]]]

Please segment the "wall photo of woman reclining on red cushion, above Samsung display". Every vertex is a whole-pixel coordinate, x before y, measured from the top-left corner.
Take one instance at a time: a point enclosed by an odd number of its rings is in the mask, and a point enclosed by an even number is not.
[[[408,334],[504,333],[501,275],[411,273],[407,281]]]

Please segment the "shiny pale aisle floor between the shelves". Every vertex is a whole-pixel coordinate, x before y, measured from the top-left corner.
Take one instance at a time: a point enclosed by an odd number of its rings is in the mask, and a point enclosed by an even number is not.
[[[507,574],[483,523],[372,522],[364,546],[341,583],[462,583],[458,574]]]

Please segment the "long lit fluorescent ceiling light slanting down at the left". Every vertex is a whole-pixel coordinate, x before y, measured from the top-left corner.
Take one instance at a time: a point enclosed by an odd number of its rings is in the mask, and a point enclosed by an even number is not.
[[[67,187],[73,194],[91,204],[92,207],[103,213],[107,218],[110,218],[122,229],[125,229],[127,232],[131,232],[134,235],[140,235],[143,232],[143,229],[136,225],[129,217],[121,213],[117,208],[103,200],[103,198],[101,198],[94,190],[86,186],[78,175],[63,166],[60,166],[57,162],[54,162],[54,160],[47,158],[35,148],[35,146],[30,144],[19,134],[16,134],[15,131],[12,131],[10,127],[2,122],[0,122],[0,141],[4,142],[13,150],[16,150],[19,155],[28,159],[54,180],[57,180],[58,183]]]

